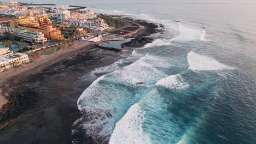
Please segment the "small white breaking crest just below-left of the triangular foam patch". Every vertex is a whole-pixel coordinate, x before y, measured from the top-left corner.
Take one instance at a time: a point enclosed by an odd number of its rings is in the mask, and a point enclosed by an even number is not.
[[[184,81],[180,74],[167,76],[164,79],[159,80],[155,85],[173,90],[179,90],[189,87],[189,84]]]

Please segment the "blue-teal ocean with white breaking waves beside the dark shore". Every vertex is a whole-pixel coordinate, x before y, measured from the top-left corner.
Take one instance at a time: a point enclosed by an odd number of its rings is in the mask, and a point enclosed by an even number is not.
[[[83,116],[73,135],[98,143],[256,143],[255,1],[44,3],[164,25],[153,43],[83,77],[94,82],[77,101]]]

